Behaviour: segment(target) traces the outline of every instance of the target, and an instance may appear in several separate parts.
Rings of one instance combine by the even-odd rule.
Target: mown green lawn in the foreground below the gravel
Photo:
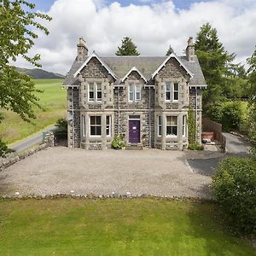
[[[211,204],[157,199],[0,201],[0,255],[256,255]]]

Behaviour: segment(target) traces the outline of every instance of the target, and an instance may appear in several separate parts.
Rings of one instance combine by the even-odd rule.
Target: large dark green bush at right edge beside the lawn
[[[256,161],[226,158],[213,177],[213,195],[235,233],[256,235]]]

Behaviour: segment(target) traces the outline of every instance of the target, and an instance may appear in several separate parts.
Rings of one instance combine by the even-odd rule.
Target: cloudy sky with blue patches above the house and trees
[[[183,55],[190,36],[206,22],[236,62],[246,63],[256,44],[256,0],[30,0],[53,20],[39,20],[49,36],[38,32],[30,55],[40,54],[42,68],[66,74],[83,37],[89,54],[114,55],[128,36],[141,55],[166,55],[169,45]],[[18,58],[18,67],[32,67]]]

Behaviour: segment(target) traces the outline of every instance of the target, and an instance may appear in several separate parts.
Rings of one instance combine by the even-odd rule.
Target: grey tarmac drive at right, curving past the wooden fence
[[[250,144],[242,137],[237,137],[230,133],[224,132],[226,137],[226,154],[218,158],[209,159],[189,159],[189,166],[194,172],[203,175],[212,176],[214,169],[218,167],[218,162],[227,156],[247,156],[249,154]]]

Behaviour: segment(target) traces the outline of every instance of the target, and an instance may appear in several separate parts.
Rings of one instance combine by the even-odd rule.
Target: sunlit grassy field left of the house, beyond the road
[[[55,124],[55,121],[66,116],[66,90],[62,89],[62,79],[38,79],[35,80],[36,87],[44,90],[38,93],[42,109],[36,109],[37,119],[33,120],[35,125],[27,124],[16,113],[1,110],[5,119],[0,124],[0,136],[7,143],[14,143],[22,138],[44,129],[48,125]]]

